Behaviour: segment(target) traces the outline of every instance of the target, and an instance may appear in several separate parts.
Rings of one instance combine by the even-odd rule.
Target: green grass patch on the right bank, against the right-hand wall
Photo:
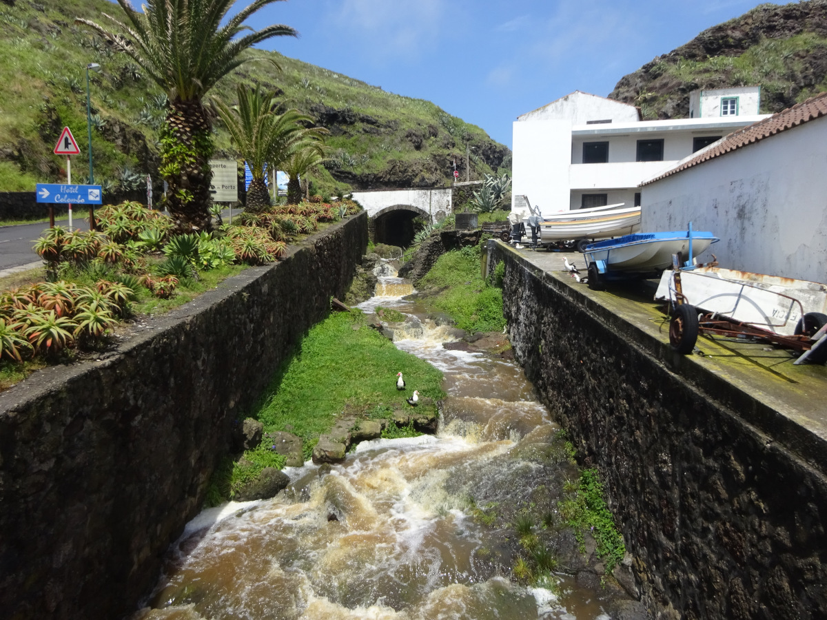
[[[505,327],[503,293],[482,279],[480,246],[452,250],[440,256],[419,283],[419,289],[426,293],[438,291],[432,303],[447,312],[460,329],[502,331]]]

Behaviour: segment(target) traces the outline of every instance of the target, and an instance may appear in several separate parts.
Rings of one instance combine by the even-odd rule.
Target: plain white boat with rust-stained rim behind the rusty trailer
[[[748,271],[696,267],[681,269],[681,294],[704,312],[793,336],[802,316],[827,312],[827,285]],[[676,301],[675,272],[664,271],[655,299]]]

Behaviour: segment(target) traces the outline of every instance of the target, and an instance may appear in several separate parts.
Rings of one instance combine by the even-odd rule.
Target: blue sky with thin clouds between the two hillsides
[[[250,24],[293,26],[299,39],[263,47],[433,101],[510,146],[519,114],[573,90],[605,96],[625,74],[758,3],[287,0]]]

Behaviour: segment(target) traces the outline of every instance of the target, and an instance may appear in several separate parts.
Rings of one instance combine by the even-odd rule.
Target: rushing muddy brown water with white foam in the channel
[[[475,507],[533,507],[570,466],[530,457],[556,428],[522,370],[443,346],[451,329],[401,299],[409,287],[382,278],[361,308],[420,315],[394,341],[445,373],[437,436],[367,441],[321,476],[286,469],[292,484],[272,500],[204,511],[137,618],[610,618],[599,589],[566,575],[552,579],[557,595],[512,579],[513,527],[480,522]]]

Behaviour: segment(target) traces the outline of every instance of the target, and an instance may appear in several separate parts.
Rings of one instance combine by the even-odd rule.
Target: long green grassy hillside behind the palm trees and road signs
[[[156,176],[158,127],[165,97],[131,60],[74,23],[86,17],[105,24],[102,12],[120,8],[105,0],[0,1],[0,191],[33,190],[36,182],[63,179],[65,160],[52,155],[63,126],[86,153],[85,67],[91,73],[95,181],[112,191]],[[330,190],[416,187],[447,183],[452,160],[464,162],[471,146],[471,175],[510,168],[510,151],[480,127],[463,122],[422,99],[385,93],[380,87],[289,59],[251,50],[219,84],[215,96],[234,103],[238,80],[278,88],[284,107],[298,107],[331,131],[332,163],[314,179]],[[280,65],[279,71],[272,61]],[[217,127],[217,156],[234,157],[226,132]],[[88,162],[73,158],[73,180],[84,180]]]

